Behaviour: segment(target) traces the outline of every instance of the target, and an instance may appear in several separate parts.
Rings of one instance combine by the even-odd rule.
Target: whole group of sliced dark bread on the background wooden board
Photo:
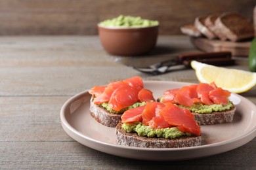
[[[252,39],[256,30],[256,7],[254,11],[254,22],[251,23],[247,18],[236,12],[216,12],[207,16],[198,16],[194,21],[194,27],[207,39],[221,39],[221,41],[244,41]],[[194,32],[192,26],[184,25],[181,32],[197,37],[199,33]]]

